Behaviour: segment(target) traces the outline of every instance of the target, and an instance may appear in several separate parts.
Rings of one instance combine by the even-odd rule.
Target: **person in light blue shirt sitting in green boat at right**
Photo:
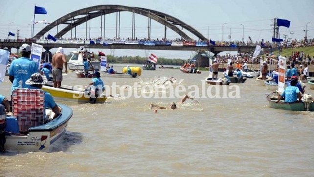
[[[286,87],[286,89],[279,96],[276,103],[278,103],[283,97],[285,98],[286,103],[294,103],[297,101],[301,101],[302,95],[299,88],[296,87],[297,82],[298,82],[297,79],[291,79],[290,86]]]

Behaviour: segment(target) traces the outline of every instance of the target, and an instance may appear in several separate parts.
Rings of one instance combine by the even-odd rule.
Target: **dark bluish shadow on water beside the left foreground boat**
[[[82,140],[82,133],[66,131],[63,138],[54,143],[51,152],[67,151],[70,146],[82,143]]]

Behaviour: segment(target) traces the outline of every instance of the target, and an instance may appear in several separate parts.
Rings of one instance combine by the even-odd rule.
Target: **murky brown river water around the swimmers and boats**
[[[124,65],[114,66],[117,71],[122,67]],[[115,91],[121,97],[108,98],[104,104],[58,101],[74,111],[58,148],[51,153],[0,155],[0,176],[314,176],[313,112],[270,108],[266,94],[272,91],[255,79],[247,79],[243,84],[231,83],[233,88],[207,92],[210,85],[201,81],[207,75],[205,71],[183,74],[179,69],[159,68],[144,70],[136,79],[108,78],[102,73],[106,85],[120,86]],[[162,85],[169,77],[177,80]],[[89,82],[90,79],[78,79],[75,72],[70,72],[64,76],[63,84],[73,86]],[[141,97],[135,98],[133,94],[127,98],[135,82],[140,87],[138,91],[132,89],[131,93],[136,92]],[[6,77],[0,85],[1,94],[8,96],[10,85]],[[158,86],[168,88],[151,89]],[[188,89],[188,86],[194,87]],[[203,97],[194,95],[197,102],[188,99],[179,104],[179,96],[169,98],[170,87],[186,88],[186,92],[177,90],[180,96],[198,87],[198,96]],[[228,95],[230,92],[233,94]],[[150,93],[154,96],[149,97]],[[209,98],[208,93],[220,98]],[[306,93],[314,95],[309,86]],[[161,98],[162,94],[166,98]],[[148,98],[144,98],[145,95]],[[234,95],[240,98],[230,98]],[[158,110],[157,113],[149,109],[150,103],[168,106],[171,102],[176,102],[178,109]]]

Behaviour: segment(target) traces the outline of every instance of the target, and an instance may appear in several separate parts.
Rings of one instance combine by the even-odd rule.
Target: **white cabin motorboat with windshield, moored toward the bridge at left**
[[[84,70],[82,52],[72,51],[71,54],[72,54],[72,56],[71,56],[70,60],[67,62],[68,70],[73,70],[73,71],[74,70]],[[88,54],[89,53],[87,53],[87,55]],[[96,70],[96,71],[100,70],[100,61],[90,61],[90,63],[94,67],[94,70]],[[90,71],[92,71],[91,67],[90,67]]]

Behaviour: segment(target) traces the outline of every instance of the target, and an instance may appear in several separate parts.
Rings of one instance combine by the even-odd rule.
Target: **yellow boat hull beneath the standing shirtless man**
[[[77,103],[89,103],[90,96],[87,95],[82,88],[71,87],[68,85],[61,85],[61,88],[54,88],[53,83],[48,82],[43,85],[42,90],[49,92],[55,100],[59,101],[71,101]],[[102,94],[96,99],[96,104],[102,104],[106,101],[106,96]]]

